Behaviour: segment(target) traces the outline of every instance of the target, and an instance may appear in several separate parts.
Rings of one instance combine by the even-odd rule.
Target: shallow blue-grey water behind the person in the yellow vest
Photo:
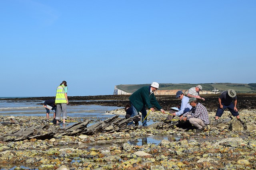
[[[46,116],[46,109],[43,107],[43,103],[44,101],[0,100],[0,115]],[[113,117],[113,115],[105,114],[106,111],[111,111],[119,108],[122,107],[98,105],[68,105],[67,113],[69,117],[108,118]],[[50,116],[53,116],[52,110],[50,110]],[[120,117],[122,117],[122,115]]]

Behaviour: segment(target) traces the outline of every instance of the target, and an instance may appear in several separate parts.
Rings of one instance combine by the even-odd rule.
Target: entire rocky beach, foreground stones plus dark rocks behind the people
[[[0,115],[0,132],[1,136],[4,136],[0,141],[0,168],[3,170],[256,169],[256,94],[238,94],[237,106],[244,125],[230,116],[227,110],[218,121],[214,121],[218,96],[218,94],[203,96],[206,101],[201,103],[208,109],[210,125],[200,132],[178,121],[166,122],[166,114],[150,112],[148,120],[155,123],[148,127],[131,126],[125,131],[111,133],[57,135],[50,139],[32,138],[15,141],[11,134],[31,125],[55,129],[64,127],[44,121],[45,117]],[[75,96],[70,97],[69,100],[70,105],[73,106],[97,104],[124,107],[129,104],[128,97],[127,95]],[[165,110],[180,104],[180,100],[171,95],[161,95],[156,98]],[[23,100],[45,99],[24,98]],[[106,111],[106,114],[124,115],[125,111],[117,109]],[[69,117],[68,121],[71,124],[71,122],[90,121],[90,118]],[[94,123],[100,121],[94,120]],[[42,135],[44,133],[46,132],[42,131]],[[163,139],[159,144],[145,145],[132,145],[126,142],[130,138],[157,135],[174,135],[180,140]],[[104,146],[108,141],[112,145]],[[122,141],[122,144],[119,141]],[[102,143],[102,147],[100,144],[98,147],[88,147],[89,143],[98,142]]]

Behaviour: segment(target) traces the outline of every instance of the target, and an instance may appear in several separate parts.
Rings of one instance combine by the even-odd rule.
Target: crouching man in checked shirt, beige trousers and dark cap
[[[206,125],[209,125],[209,115],[205,106],[196,101],[196,98],[190,98],[188,103],[192,106],[192,109],[187,113],[184,113],[180,120],[186,121],[196,127],[197,131],[203,131]]]

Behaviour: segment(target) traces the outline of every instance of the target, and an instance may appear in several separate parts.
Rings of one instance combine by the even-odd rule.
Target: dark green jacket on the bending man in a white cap
[[[130,102],[138,112],[142,110],[143,106],[148,108],[155,106],[158,110],[162,109],[162,107],[157,102],[154,93],[150,94],[150,87],[151,86],[144,86],[138,89],[129,98]]]

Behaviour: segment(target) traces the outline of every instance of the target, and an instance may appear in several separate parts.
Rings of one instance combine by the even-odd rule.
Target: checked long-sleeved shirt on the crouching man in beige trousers
[[[184,113],[183,117],[186,117],[186,115],[191,115],[188,116],[187,119],[189,120],[190,118],[198,118],[201,119],[205,125],[209,125],[209,115],[206,107],[204,105],[197,103],[195,107],[192,107],[192,109]]]

